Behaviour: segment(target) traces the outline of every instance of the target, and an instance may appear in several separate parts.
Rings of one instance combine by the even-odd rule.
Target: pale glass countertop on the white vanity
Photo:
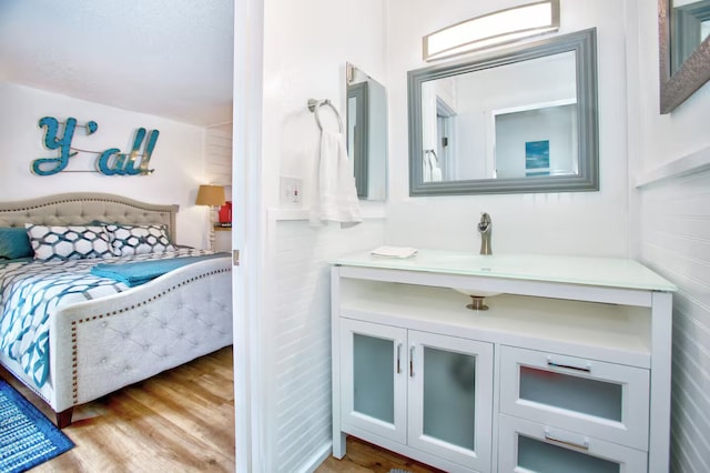
[[[676,285],[641,263],[621,258],[551,254],[480,255],[462,251],[418,250],[409,258],[359,252],[332,261],[342,266],[377,268],[511,280],[561,282],[607,288],[674,292]]]

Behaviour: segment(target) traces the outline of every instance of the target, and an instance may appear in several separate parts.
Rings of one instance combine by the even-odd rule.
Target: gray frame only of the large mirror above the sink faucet
[[[422,83],[449,76],[575,51],[579,174],[516,179],[479,179],[424,182],[422,144]],[[409,195],[463,195],[484,193],[585,192],[599,190],[597,114],[597,30],[550,37],[485,57],[417,69],[407,73],[409,104]]]

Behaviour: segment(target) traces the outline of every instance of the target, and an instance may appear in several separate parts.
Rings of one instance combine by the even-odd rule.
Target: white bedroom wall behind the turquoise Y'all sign
[[[0,200],[21,200],[61,192],[109,192],[152,203],[176,203],[178,242],[206,245],[203,209],[194,205],[203,174],[203,129],[159,117],[72,99],[23,85],[0,82]],[[77,128],[72,145],[103,151],[130,151],[135,130],[159,130],[150,161],[150,175],[103,175],[95,172],[60,172],[34,175],[31,162],[57,157],[43,147],[42,117],[60,121],[69,117],[79,124],[94,120],[99,129],[85,135]],[[61,135],[61,134],[60,134]],[[79,153],[67,169],[91,170],[97,154]]]

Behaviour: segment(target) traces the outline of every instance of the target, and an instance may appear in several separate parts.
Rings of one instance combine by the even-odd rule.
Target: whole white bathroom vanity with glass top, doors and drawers
[[[667,472],[674,286],[539,258],[337,260],[334,456],[352,434],[452,472]]]

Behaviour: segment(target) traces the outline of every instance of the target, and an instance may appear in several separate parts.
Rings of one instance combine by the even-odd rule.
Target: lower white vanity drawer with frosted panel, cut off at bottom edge
[[[498,471],[639,473],[646,452],[500,414]]]

